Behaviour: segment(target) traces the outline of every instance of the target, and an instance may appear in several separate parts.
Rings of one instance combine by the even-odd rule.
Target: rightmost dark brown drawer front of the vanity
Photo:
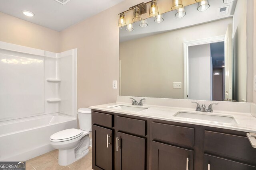
[[[256,164],[256,149],[247,137],[204,131],[204,151]]]

